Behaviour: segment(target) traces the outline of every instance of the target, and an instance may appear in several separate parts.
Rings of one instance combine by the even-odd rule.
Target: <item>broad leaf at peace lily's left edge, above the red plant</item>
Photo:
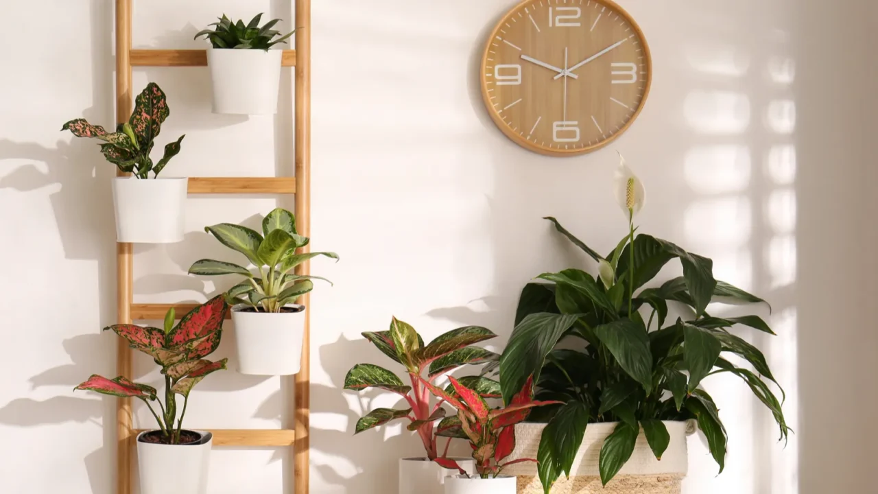
[[[500,385],[506,403],[524,387],[530,376],[539,381],[546,355],[576,320],[577,316],[572,314],[539,313],[525,317],[515,326],[500,357]]]

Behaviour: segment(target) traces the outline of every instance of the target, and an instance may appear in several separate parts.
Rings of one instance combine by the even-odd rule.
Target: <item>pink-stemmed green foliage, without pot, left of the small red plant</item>
[[[394,317],[387,331],[363,332],[363,337],[372,342],[378,350],[397,364],[405,367],[411,385],[403,383],[396,374],[372,364],[356,364],[344,378],[344,389],[363,390],[369,388],[384,389],[402,396],[408,403],[407,410],[378,409],[360,418],[356,423],[356,433],[372,427],[385,425],[397,418],[408,418],[409,431],[418,433],[430,460],[442,460],[436,446],[436,437],[466,438],[462,425],[457,417],[445,417],[446,410],[442,402],[432,403],[430,396],[450,396],[457,401],[457,391],[450,387],[446,390],[436,389],[432,382],[443,374],[447,374],[465,365],[479,365],[495,362],[500,358],[478,346],[471,346],[497,335],[479,326],[464,326],[448,331],[429,343],[424,344],[423,338],[414,328]],[[428,372],[427,377],[424,374]],[[461,378],[460,383],[471,389],[481,398],[500,397],[500,382],[484,376]],[[436,422],[443,419],[436,426]],[[450,463],[449,463],[450,465]],[[448,468],[452,468],[449,466]]]

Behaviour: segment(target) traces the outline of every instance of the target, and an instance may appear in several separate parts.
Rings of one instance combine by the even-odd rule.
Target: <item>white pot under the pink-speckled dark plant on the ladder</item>
[[[116,240],[122,243],[183,242],[188,186],[188,178],[113,178]]]

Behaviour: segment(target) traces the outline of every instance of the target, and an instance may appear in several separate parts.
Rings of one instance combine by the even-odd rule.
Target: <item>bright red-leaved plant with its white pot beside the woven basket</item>
[[[446,390],[436,388],[429,381],[422,380],[422,383],[457,409],[457,416],[444,418],[439,423],[439,432],[470,440],[478,476],[470,476],[453,460],[436,458],[437,463],[455,468],[461,474],[445,479],[445,494],[515,494],[515,476],[501,476],[500,473],[516,463],[536,463],[533,458],[521,457],[503,462],[515,449],[515,424],[528,418],[530,409],[536,406],[564,402],[534,401],[534,381],[529,378],[506,407],[492,409],[479,391],[453,377],[449,380],[450,389]]]

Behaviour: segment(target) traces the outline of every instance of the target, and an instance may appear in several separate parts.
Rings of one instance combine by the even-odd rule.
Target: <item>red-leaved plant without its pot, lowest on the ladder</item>
[[[147,384],[138,384],[120,375],[107,379],[93,374],[88,381],[76,389],[88,389],[104,395],[135,397],[147,403],[162,431],[163,444],[180,444],[183,432],[183,418],[189,394],[199,381],[219,369],[226,368],[227,359],[213,362],[205,360],[217,346],[222,335],[222,323],[228,312],[228,305],[222,295],[212,298],[205,304],[192,309],[174,325],[174,309],[165,316],[164,327],[151,328],[134,324],[116,324],[105,330],[115,331],[125,338],[133,349],[151,356],[162,366],[165,380],[164,403],[158,391]],[[176,396],[183,396],[183,409],[177,414]],[[161,415],[156,413],[151,402],[158,402]]]

